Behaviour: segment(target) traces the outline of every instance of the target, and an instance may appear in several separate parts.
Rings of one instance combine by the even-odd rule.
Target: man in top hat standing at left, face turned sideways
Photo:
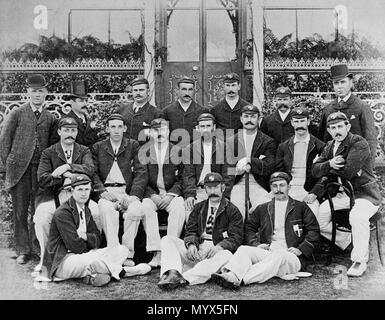
[[[98,132],[88,117],[87,87],[83,80],[71,81],[71,111],[65,117],[71,117],[78,124],[76,142],[91,147],[98,141]]]

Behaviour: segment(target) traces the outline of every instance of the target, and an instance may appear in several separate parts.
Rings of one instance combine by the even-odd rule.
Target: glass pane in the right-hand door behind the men
[[[236,61],[238,14],[229,15],[226,10],[209,10],[206,14],[207,61]],[[221,23],[219,24],[218,21]]]

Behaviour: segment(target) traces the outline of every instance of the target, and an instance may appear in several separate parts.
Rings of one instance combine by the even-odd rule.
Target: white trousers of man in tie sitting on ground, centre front
[[[214,246],[212,241],[204,241],[199,245],[199,253],[204,257],[208,248]],[[213,273],[224,266],[231,258],[229,250],[219,251],[215,256],[199,262],[187,259],[187,249],[182,239],[165,236],[161,241],[162,276],[169,270],[179,271],[190,285],[205,283]]]

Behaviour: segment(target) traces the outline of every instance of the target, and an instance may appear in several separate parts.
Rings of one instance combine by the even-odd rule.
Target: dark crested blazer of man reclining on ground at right
[[[257,247],[262,243],[271,244],[274,233],[275,200],[257,206],[245,222],[245,244]],[[294,226],[302,229],[302,234],[294,232]],[[313,212],[306,203],[289,197],[285,213],[285,238],[288,248],[301,250],[298,258],[305,269],[314,248],[320,239],[320,227]]]

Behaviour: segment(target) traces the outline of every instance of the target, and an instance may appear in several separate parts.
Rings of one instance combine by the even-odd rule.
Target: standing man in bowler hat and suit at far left
[[[28,227],[28,207],[35,213],[37,168],[42,151],[58,141],[57,120],[44,107],[48,93],[40,74],[27,79],[29,101],[7,115],[0,134],[0,157],[6,170],[6,187],[13,206],[17,263],[38,254],[33,226]]]

